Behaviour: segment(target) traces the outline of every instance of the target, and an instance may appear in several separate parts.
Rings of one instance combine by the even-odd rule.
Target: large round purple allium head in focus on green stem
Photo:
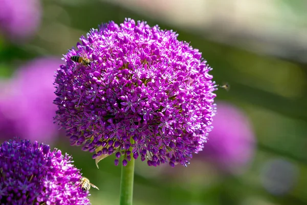
[[[55,120],[71,145],[116,152],[149,166],[186,166],[202,150],[215,113],[211,68],[173,31],[125,19],[92,29],[64,55],[55,80]],[[73,55],[89,58],[82,66]],[[118,159],[115,160],[118,164]]]

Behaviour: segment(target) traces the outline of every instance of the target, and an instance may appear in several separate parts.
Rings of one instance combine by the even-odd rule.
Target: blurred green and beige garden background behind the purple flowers
[[[36,57],[56,56],[75,46],[91,28],[125,17],[179,33],[198,48],[217,84],[216,100],[236,105],[249,117],[257,140],[251,165],[239,175],[216,172],[206,161],[191,160],[187,168],[136,165],[134,204],[307,204],[307,3],[270,0],[45,0],[42,22],[23,44],[0,39],[0,76]],[[210,134],[209,134],[210,138]],[[61,137],[54,147],[73,155],[100,191],[91,189],[92,204],[119,204],[120,166],[109,156],[96,168],[92,154],[70,147]],[[223,149],[223,148],[221,148]],[[277,170],[277,185],[289,191],[272,194],[263,182],[270,160],[289,162],[295,172]],[[287,167],[287,166],[286,166]],[[279,175],[279,174],[280,175]],[[275,177],[271,176],[271,177]],[[287,186],[287,185],[285,185]]]

